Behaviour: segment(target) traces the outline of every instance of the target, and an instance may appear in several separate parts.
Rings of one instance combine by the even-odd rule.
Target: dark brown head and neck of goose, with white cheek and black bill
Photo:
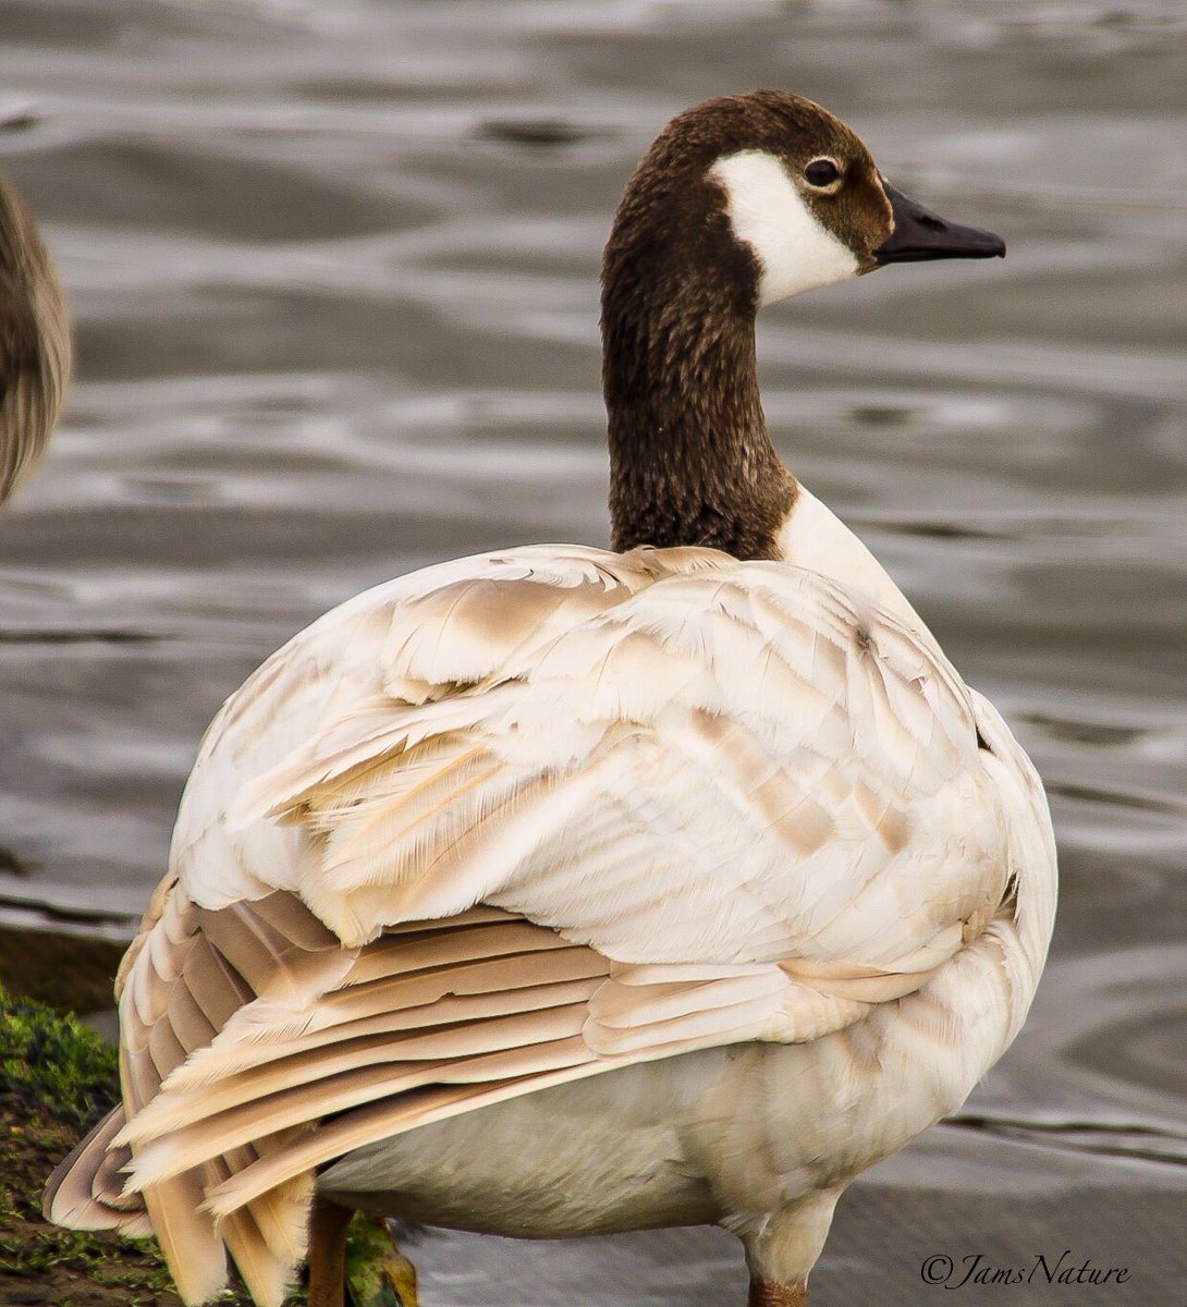
[[[803,97],[753,91],[675,118],[627,183],[603,261],[616,548],[777,557],[795,481],[758,397],[762,305],[890,263],[1004,254],[892,187]]]

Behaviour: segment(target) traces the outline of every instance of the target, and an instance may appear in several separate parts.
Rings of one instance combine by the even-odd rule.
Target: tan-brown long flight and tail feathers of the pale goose
[[[310,1157],[595,1061],[580,1029],[608,962],[498,910],[350,950],[294,895],[210,911],[166,881],[145,928],[120,975],[124,1108],[46,1201],[69,1223],[150,1223],[188,1302],[225,1282],[225,1251],[258,1302],[282,1299]]]

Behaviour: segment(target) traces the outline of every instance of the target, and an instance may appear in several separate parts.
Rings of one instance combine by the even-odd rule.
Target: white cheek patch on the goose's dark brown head
[[[858,274],[852,250],[808,208],[774,154],[743,150],[709,175],[726,188],[733,234],[758,256],[761,305]]]

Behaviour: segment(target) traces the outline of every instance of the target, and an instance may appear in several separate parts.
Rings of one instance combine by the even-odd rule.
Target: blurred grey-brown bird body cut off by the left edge
[[[58,274],[33,214],[0,174],[0,503],[41,457],[69,371]]]

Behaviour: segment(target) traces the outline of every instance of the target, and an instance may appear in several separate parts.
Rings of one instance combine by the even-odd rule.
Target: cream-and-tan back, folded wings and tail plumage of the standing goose
[[[141,1195],[193,1298],[246,1225],[275,1302],[316,1166],[634,1061],[818,1040],[979,941],[1003,1018],[962,1098],[1050,910],[1028,933],[1037,780],[979,733],[928,638],[807,570],[537,546],[353,600],[210,728],[123,972],[128,1191],[51,1209],[127,1222]]]

